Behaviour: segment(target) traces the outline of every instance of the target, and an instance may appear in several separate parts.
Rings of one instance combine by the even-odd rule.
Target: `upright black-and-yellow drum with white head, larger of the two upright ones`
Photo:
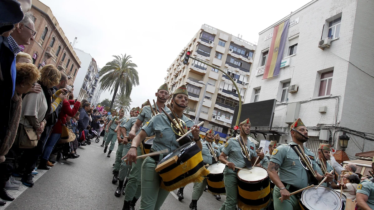
[[[266,169],[254,166],[250,170],[239,170],[237,179],[237,206],[240,209],[261,209],[269,204],[270,179]]]

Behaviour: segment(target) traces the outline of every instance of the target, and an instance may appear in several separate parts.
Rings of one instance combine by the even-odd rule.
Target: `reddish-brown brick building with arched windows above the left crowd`
[[[50,8],[39,0],[33,0],[31,12],[35,16],[37,34],[30,45],[21,46],[21,48],[33,57],[33,63],[36,66],[52,64],[71,77],[68,85],[73,84],[81,62],[64,31]]]

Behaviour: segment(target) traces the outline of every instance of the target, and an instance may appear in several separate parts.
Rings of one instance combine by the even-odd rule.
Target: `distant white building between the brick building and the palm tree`
[[[82,61],[81,70],[78,71],[74,81],[74,96],[87,99],[92,105],[98,104],[101,91],[99,84],[99,69],[96,61],[89,53],[74,48],[78,58]]]

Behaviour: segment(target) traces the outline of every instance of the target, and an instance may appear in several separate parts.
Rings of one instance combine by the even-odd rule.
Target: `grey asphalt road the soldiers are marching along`
[[[7,201],[7,206],[0,210],[122,209],[124,196],[115,197],[117,185],[111,183],[117,146],[108,158],[100,146],[101,142],[93,141],[91,145],[78,148],[80,157],[77,159],[61,160],[48,171],[38,170],[39,175],[34,177],[35,185],[32,188],[22,185],[19,190],[10,190],[16,199]],[[192,188],[192,183],[186,186],[183,201],[178,201],[177,191],[171,192],[161,209],[189,210]],[[218,201],[204,192],[197,202],[197,209],[218,210],[226,199],[224,195],[221,197]],[[140,200],[136,209],[139,206]]]

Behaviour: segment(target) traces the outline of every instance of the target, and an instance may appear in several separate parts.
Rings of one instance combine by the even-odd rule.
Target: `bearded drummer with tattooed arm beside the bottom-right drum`
[[[316,171],[318,166],[315,162],[314,154],[303,145],[309,137],[308,130],[300,118],[291,125],[290,130],[292,142],[274,149],[267,167],[267,173],[276,185],[273,191],[275,210],[300,209],[297,195],[290,196],[290,192],[305,188],[310,184],[308,181],[308,173],[310,172],[301,165],[300,159],[291,148],[291,145],[300,145],[304,149],[304,153],[312,161],[312,167],[316,172],[318,182],[321,182],[325,176],[327,176],[327,182],[331,182],[334,179],[334,176],[329,173],[325,173],[325,176],[322,176]],[[277,198],[281,198],[281,200]]]

